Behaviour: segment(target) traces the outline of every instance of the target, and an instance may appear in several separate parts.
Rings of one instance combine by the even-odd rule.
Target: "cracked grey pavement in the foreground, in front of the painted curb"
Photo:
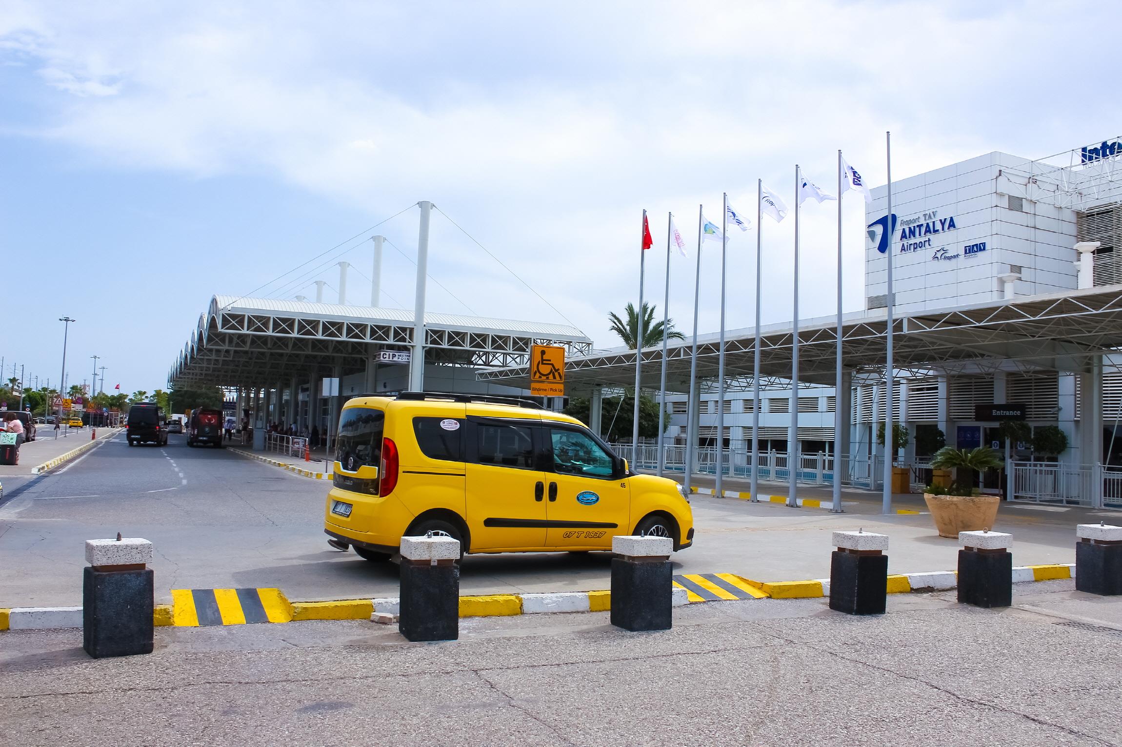
[[[641,634],[475,618],[438,644],[358,620],[157,628],[150,656],[108,660],[77,630],[8,631],[0,745],[1122,744],[1122,600],[1014,594],[896,594],[865,618],[708,602]]]

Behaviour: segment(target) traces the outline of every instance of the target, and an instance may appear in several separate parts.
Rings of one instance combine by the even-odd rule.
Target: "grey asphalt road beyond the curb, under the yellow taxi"
[[[0,505],[0,607],[81,605],[84,541],[139,536],[155,544],[157,601],[172,589],[282,589],[291,600],[397,596],[397,566],[328,546],[328,483],[229,450],[126,444],[92,449]],[[15,497],[9,498],[16,494]],[[871,501],[870,506],[875,506]],[[919,504],[917,504],[919,507]],[[850,504],[852,511],[865,510]],[[739,573],[763,581],[829,575],[830,532],[885,532],[890,572],[954,570],[957,543],[940,540],[929,516],[833,515],[773,504],[695,497],[695,546],[675,553],[675,572]],[[995,528],[1014,534],[1017,564],[1070,563],[1074,525],[1118,522],[1118,511],[1003,506]],[[606,553],[470,555],[463,593],[607,589]]]

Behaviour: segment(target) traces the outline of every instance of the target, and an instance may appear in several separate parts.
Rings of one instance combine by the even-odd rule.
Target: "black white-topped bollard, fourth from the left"
[[[830,609],[847,615],[884,615],[889,589],[886,534],[835,532],[830,555]]]

